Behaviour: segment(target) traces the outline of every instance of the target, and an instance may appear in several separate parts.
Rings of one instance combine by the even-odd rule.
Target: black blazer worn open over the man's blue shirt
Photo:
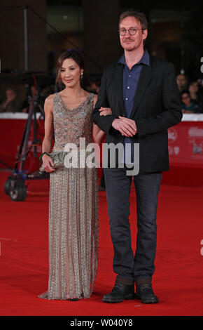
[[[111,107],[112,114],[100,116],[100,107]],[[114,62],[104,70],[97,103],[92,112],[94,123],[106,133],[105,143],[123,143],[122,134],[111,126],[118,116],[126,117],[123,65]],[[150,56],[150,66],[144,65],[141,71],[130,119],[134,119],[137,125],[138,133],[132,137],[132,141],[139,143],[140,171],[168,171],[167,128],[182,119],[179,89],[172,63]]]

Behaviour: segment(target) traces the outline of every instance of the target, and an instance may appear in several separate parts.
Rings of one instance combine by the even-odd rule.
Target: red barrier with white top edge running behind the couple
[[[0,161],[13,168],[15,156],[25,128],[27,114],[0,114]],[[43,139],[43,120],[38,140]],[[174,185],[203,185],[203,114],[184,114],[180,124],[169,128],[169,163],[170,171],[165,172],[162,183]],[[33,126],[29,145],[33,138]],[[25,169],[30,173],[38,170],[38,157],[41,154],[41,143],[37,145],[37,157],[34,158],[33,148],[25,162]],[[102,164],[102,152],[100,154]],[[6,168],[0,164],[1,168]],[[99,177],[102,169],[98,169]]]

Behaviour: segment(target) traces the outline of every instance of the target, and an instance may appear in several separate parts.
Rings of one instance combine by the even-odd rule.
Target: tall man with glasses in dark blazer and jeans
[[[104,70],[92,114],[94,123],[106,132],[106,145],[124,146],[122,159],[116,153],[115,166],[111,166],[110,147],[108,159],[103,159],[113,270],[117,274],[113,290],[102,299],[106,303],[132,298],[139,298],[142,303],[158,303],[151,284],[155,271],[158,192],[162,171],[169,170],[167,128],[181,121],[182,112],[174,65],[148,54],[144,48],[147,33],[144,13],[128,11],[120,15],[124,54]],[[111,107],[112,114],[100,116],[101,107]],[[134,145],[139,145],[139,155]],[[139,171],[129,175],[132,163]],[[135,255],[128,218],[132,177],[137,194]]]

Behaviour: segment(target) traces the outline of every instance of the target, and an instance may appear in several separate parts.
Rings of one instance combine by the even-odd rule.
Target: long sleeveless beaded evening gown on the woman
[[[94,94],[74,109],[55,93],[54,150],[66,143],[92,143]],[[85,157],[87,157],[87,153]],[[49,280],[39,298],[89,298],[97,275],[99,251],[97,168],[62,167],[50,173]]]

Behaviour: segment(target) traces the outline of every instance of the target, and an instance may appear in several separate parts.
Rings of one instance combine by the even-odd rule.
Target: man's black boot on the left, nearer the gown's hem
[[[122,303],[122,301],[134,299],[134,284],[123,284],[116,281],[111,293],[105,294],[102,301],[104,303]]]

